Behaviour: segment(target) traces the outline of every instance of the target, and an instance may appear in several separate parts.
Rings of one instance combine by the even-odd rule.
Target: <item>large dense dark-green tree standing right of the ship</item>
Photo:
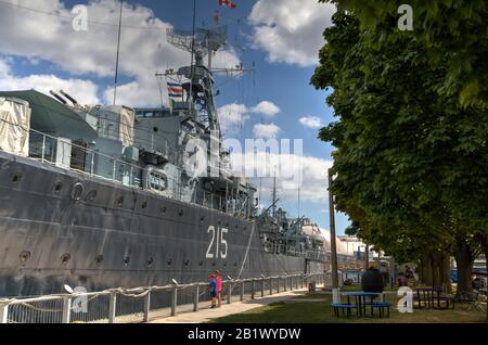
[[[371,24],[363,1],[334,2],[349,12],[339,10],[325,30],[312,84],[333,89],[328,103],[339,119],[320,133],[337,148],[337,207],[362,238],[396,255],[446,260],[452,250],[468,290],[467,242],[488,229],[483,90],[467,92],[467,81],[452,77],[455,49],[432,52],[426,37],[436,30],[398,30],[395,15],[381,15],[390,7]]]

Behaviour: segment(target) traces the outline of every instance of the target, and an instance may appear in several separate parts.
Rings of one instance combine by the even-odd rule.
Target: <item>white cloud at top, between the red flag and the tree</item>
[[[335,5],[317,0],[258,0],[248,17],[254,46],[270,62],[314,65],[335,11]]]

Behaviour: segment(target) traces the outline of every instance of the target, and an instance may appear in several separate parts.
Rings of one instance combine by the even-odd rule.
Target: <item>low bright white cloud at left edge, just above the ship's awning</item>
[[[0,59],[0,90],[30,90],[35,89],[48,95],[50,90],[64,90],[74,95],[81,104],[98,104],[98,87],[90,80],[61,79],[53,75],[30,75],[18,77],[12,74],[8,60]]]

